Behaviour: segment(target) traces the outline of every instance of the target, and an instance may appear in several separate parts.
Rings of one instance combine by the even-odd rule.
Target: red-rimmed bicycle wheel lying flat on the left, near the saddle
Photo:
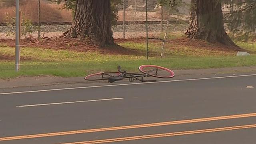
[[[120,72],[99,72],[84,77],[85,80],[108,80],[109,77],[120,76]]]

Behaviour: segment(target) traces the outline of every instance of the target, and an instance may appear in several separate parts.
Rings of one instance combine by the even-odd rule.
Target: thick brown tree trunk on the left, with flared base
[[[110,0],[77,0],[72,27],[65,37],[89,38],[99,46],[112,45]]]

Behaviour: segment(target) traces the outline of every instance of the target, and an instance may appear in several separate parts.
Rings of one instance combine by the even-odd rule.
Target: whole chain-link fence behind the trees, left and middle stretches
[[[170,32],[184,33],[188,25],[190,0],[178,11],[169,13],[158,0],[148,0],[148,34],[159,36],[165,31],[169,18]],[[123,9],[124,8],[124,9]],[[20,0],[22,39],[60,36],[69,30],[73,14],[63,4],[48,0]],[[112,26],[114,38],[146,37],[146,0],[124,0],[118,6],[118,22]],[[15,39],[15,0],[0,0],[0,39]]]

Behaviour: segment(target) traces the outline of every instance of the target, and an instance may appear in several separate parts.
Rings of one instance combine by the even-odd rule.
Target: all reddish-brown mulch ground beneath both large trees
[[[121,42],[135,42],[135,43],[143,43],[145,42],[145,38],[130,38],[130,39],[115,39],[116,43]],[[149,42],[161,42],[158,39],[150,39]],[[15,40],[6,40],[0,39],[0,44],[4,44],[10,47],[15,47]],[[39,47],[45,49],[52,49],[52,50],[72,50],[76,52],[99,52],[101,54],[125,54],[125,55],[136,55],[141,56],[145,55],[143,51],[140,50],[132,50],[129,48],[124,48],[122,46],[108,46],[104,48],[100,48],[96,44],[92,44],[85,40],[76,40],[76,39],[65,39],[65,38],[51,38],[51,39],[41,39],[37,40],[34,38],[26,38],[21,40],[22,46],[29,46],[29,47]],[[195,48],[205,49],[205,50],[214,50],[214,51],[221,51],[221,52],[237,52],[237,51],[246,51],[238,46],[225,46],[220,43],[209,43],[203,40],[191,40],[189,38],[177,38],[173,40],[166,41],[166,47],[170,49],[180,48],[180,47],[187,47],[190,50]],[[0,60],[3,59],[13,59],[12,57],[4,57],[0,55]],[[26,59],[26,58],[23,58]]]

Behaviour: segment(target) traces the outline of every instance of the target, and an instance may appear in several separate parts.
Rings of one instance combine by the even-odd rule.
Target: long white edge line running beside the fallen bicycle
[[[101,88],[101,87],[109,87],[109,86],[128,86],[128,85],[137,85],[137,84],[154,84],[154,83],[165,83],[165,82],[183,82],[183,81],[192,81],[192,80],[210,80],[210,79],[220,79],[220,78],[236,78],[236,77],[245,77],[245,76],[256,76],[256,74],[238,75],[238,76],[221,76],[221,77],[211,77],[211,78],[193,78],[193,79],[185,79],[185,80],[166,80],[166,81],[159,81],[159,82],[111,84],[111,85],[102,85],[102,86],[84,86],[84,87],[76,87],[76,88],[58,88],[58,89],[49,89],[49,90],[32,90],[32,91],[23,91],[23,92],[6,92],[6,93],[0,93],[0,95],[4,95],[4,94],[22,94],[22,93],[30,93],[30,92],[49,92],[49,91],[55,91],[55,90],[74,90],[74,89],[82,89],[82,88]]]

